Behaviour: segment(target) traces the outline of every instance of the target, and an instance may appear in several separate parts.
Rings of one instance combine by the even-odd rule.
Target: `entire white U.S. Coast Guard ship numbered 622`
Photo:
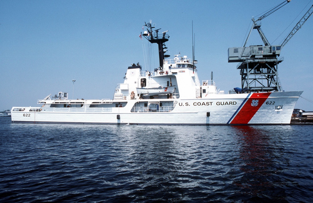
[[[13,123],[129,124],[129,125],[281,125],[290,124],[303,91],[233,91],[217,89],[210,80],[199,81],[198,61],[166,55],[168,31],[145,23],[140,34],[159,50],[154,71],[132,64],[112,99],[69,99],[59,92],[37,101],[37,107],[12,107]]]

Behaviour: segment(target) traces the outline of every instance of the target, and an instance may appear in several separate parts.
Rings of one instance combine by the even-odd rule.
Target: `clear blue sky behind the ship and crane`
[[[144,70],[158,67],[157,45],[149,48],[139,38],[150,20],[156,29],[168,30],[170,58],[179,52],[192,58],[193,25],[200,81],[210,80],[213,72],[218,89],[241,87],[238,63],[228,63],[228,48],[243,46],[251,18],[282,1],[0,0],[0,111],[38,106],[38,99],[61,91],[69,99],[112,99],[132,63]],[[268,41],[279,44],[312,4],[292,0],[264,18]],[[310,17],[283,47],[278,66],[283,90],[304,91],[295,108],[305,111],[313,111],[312,30]],[[250,45],[263,45],[256,30]]]

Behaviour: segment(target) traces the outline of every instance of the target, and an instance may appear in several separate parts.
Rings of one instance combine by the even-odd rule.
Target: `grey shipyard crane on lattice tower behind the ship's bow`
[[[240,62],[237,69],[240,69],[241,75],[241,88],[234,88],[234,91],[230,91],[230,93],[282,91],[278,81],[278,64],[284,60],[283,57],[279,57],[281,48],[286,45],[291,37],[295,35],[305,21],[311,16],[313,13],[313,5],[280,45],[271,45],[269,43],[264,32],[261,30],[261,23],[259,23],[259,21],[289,2],[290,0],[280,3],[257,20],[252,18],[253,24],[244,46],[228,48],[228,62]],[[252,29],[258,30],[261,39],[264,42],[264,46],[252,45],[245,47]]]

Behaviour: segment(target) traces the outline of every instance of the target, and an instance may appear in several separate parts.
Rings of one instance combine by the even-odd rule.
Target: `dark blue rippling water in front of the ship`
[[[311,202],[312,132],[0,118],[0,202]]]

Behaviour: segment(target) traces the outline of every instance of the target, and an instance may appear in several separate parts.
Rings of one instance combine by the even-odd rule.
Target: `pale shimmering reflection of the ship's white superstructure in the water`
[[[131,173],[130,181],[134,184],[125,195],[120,194],[121,198],[184,199],[184,192],[177,191],[199,185],[189,174],[194,170],[192,162],[197,156],[194,133],[173,126],[127,126],[124,130],[119,134],[128,144],[123,158],[127,167],[123,171]]]

